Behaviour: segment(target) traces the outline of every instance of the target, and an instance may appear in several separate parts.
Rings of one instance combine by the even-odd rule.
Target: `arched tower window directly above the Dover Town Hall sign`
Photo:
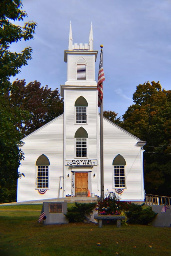
[[[87,131],[80,127],[75,133],[76,157],[87,157]]]

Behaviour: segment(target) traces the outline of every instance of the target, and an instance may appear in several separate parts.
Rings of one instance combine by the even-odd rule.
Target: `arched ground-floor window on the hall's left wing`
[[[36,161],[37,166],[37,178],[36,178],[36,188],[41,189],[48,189],[49,188],[49,166],[50,162],[49,159],[42,154],[38,157]]]

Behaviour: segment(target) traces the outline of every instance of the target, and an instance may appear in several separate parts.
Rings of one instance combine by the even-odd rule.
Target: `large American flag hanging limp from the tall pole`
[[[99,74],[98,74],[98,82],[97,82],[97,89],[99,91],[98,97],[98,107],[100,107],[102,100],[103,100],[103,81],[104,78],[104,71],[103,71],[103,63],[102,63],[102,51],[100,53],[100,64],[99,64]]]

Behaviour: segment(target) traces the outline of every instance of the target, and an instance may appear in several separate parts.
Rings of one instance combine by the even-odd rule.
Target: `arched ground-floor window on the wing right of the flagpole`
[[[126,188],[126,182],[125,182],[125,166],[126,166],[126,161],[121,156],[118,154],[114,160],[113,160],[113,184],[115,189],[122,189]]]

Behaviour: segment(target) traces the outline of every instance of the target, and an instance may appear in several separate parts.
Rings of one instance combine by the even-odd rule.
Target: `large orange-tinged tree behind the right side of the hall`
[[[142,140],[146,193],[169,196],[171,193],[171,91],[159,82],[137,86],[134,103],[123,115],[121,126]]]

